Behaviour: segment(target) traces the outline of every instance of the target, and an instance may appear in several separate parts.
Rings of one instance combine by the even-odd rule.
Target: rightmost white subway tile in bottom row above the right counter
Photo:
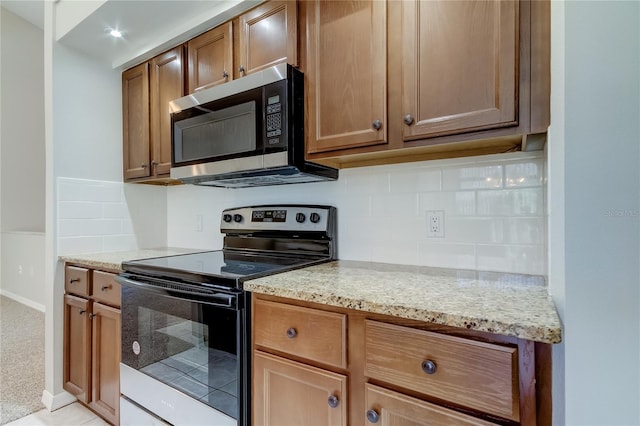
[[[519,274],[546,274],[545,250],[542,245],[476,246],[478,269]]]

